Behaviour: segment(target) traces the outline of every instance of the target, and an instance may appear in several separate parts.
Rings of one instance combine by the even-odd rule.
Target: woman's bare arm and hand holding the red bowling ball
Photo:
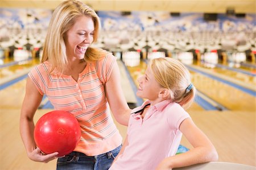
[[[48,155],[42,155],[39,148],[36,147],[34,140],[34,115],[43,96],[38,92],[31,79],[27,79],[26,94],[23,100],[20,113],[20,136],[27,151],[27,155],[31,160],[42,161],[47,163],[55,159],[57,152]]]

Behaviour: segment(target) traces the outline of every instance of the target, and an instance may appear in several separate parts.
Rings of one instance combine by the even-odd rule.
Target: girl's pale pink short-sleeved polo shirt
[[[190,118],[189,114],[179,104],[165,100],[150,106],[142,119],[135,112],[148,103],[147,100],[131,111],[127,129],[129,144],[111,170],[155,169],[165,157],[176,154],[182,136],[179,126]]]

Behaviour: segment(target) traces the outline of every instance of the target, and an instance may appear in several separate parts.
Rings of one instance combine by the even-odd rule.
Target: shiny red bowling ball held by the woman
[[[44,154],[59,152],[57,156],[67,155],[75,149],[80,137],[79,122],[67,111],[50,111],[35,125],[35,142]]]

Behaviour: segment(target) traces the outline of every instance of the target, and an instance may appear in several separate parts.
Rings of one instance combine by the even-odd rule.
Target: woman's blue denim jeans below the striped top
[[[119,146],[112,151],[97,156],[86,156],[80,152],[71,152],[71,154],[58,158],[57,170],[107,170],[121,147]]]

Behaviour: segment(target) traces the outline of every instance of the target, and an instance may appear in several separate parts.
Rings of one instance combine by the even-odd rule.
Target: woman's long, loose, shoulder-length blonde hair
[[[46,40],[44,42],[42,63],[49,61],[51,71],[63,72],[68,66],[64,35],[75,23],[75,20],[82,15],[90,16],[94,23],[93,42],[96,42],[101,30],[100,18],[96,12],[84,3],[76,0],[69,0],[60,3],[53,11]],[[84,60],[95,61],[106,55],[103,49],[88,47]]]

